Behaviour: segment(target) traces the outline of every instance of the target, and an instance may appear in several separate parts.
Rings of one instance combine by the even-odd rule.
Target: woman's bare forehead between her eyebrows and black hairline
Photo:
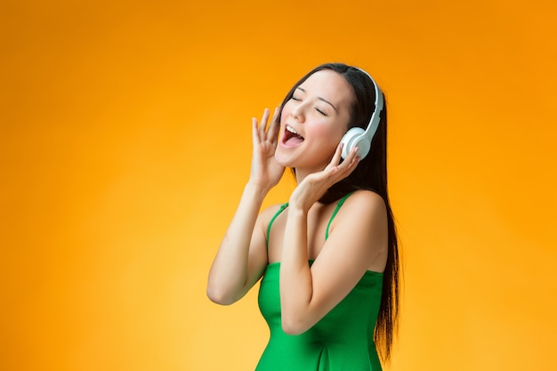
[[[332,102],[338,108],[349,109],[354,93],[346,79],[331,69],[322,69],[308,77],[300,87],[311,95]]]

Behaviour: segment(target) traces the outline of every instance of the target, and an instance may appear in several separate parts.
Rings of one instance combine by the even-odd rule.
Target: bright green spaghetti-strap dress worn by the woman
[[[331,221],[348,196],[339,201]],[[278,210],[270,224],[286,206]],[[279,270],[280,262],[270,263],[259,290],[259,308],[269,325],[270,340],[256,371],[381,370],[373,335],[383,273],[367,270],[351,292],[317,324],[301,335],[287,335],[280,324]]]

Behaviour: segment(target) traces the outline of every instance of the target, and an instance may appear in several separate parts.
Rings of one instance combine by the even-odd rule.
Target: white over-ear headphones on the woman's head
[[[358,69],[358,68],[356,68]],[[375,80],[363,69],[359,69],[369,77],[375,88],[375,110],[369,119],[369,124],[367,129],[364,130],[361,127],[352,127],[348,132],[346,132],[341,139],[343,143],[343,153],[342,157],[346,158],[350,155],[351,150],[354,147],[358,147],[358,156],[363,159],[367,156],[369,149],[371,149],[371,141],[374,138],[375,132],[377,131],[377,126],[379,126],[379,121],[381,120],[381,111],[383,110],[383,93],[379,90],[379,86],[375,84]]]

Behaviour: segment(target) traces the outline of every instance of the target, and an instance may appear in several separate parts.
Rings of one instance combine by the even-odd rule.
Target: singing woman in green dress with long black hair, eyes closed
[[[343,135],[366,129],[374,111],[367,156],[347,150]],[[399,313],[383,93],[361,69],[324,64],[287,93],[267,125],[269,117],[265,109],[261,123],[253,120],[250,177],[207,294],[230,304],[262,278],[270,342],[257,371],[381,370],[378,353],[389,359]],[[287,204],[260,214],[286,167],[297,187]]]

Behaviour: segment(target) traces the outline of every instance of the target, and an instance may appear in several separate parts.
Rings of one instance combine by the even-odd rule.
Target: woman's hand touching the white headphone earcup
[[[288,207],[308,212],[310,207],[319,201],[325,195],[325,192],[336,182],[342,181],[350,175],[359,163],[359,157],[356,157],[358,149],[352,149],[348,157],[342,164],[341,153],[342,143],[336,147],[335,155],[325,169],[318,173],[307,175],[295,188],[290,196]]]

